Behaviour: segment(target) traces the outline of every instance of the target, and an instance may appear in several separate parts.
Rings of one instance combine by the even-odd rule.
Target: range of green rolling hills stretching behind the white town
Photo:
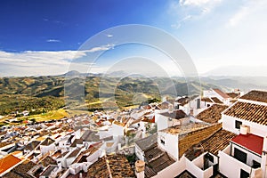
[[[163,95],[176,97],[177,95],[198,94],[200,89],[210,88],[220,88],[225,92],[229,92],[233,88],[239,88],[245,92],[252,89],[267,90],[265,82],[267,77],[200,77],[201,88],[198,78],[188,79],[190,80],[189,83],[186,83],[184,77],[129,76],[123,71],[117,71],[104,77],[103,74],[87,75],[78,71],[70,71],[61,76],[0,77],[0,103],[3,103],[3,101],[1,102],[1,95],[4,97],[14,95],[13,98],[23,95],[24,98],[28,96],[32,100],[53,97],[45,100],[49,99],[53,103],[57,103],[57,99],[62,101],[63,97],[67,98],[65,88],[68,88],[68,99],[73,103],[71,106],[78,109],[79,106],[75,101],[83,100],[81,95],[84,94],[86,102],[96,103],[89,104],[92,110],[100,109],[99,98],[103,101],[109,101],[111,105],[117,103],[118,106],[124,107],[133,105],[134,97],[138,94],[142,95],[142,93],[148,98],[161,100]],[[24,98],[18,98],[20,104],[14,101],[10,101],[9,104],[9,100],[5,100],[5,110],[11,109],[16,104],[23,106]],[[40,101],[37,105],[42,106],[41,102],[45,100],[36,100]],[[59,106],[61,105],[59,104]]]

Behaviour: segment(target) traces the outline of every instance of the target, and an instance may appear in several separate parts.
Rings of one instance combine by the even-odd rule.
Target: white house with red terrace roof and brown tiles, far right
[[[239,135],[219,153],[220,172],[229,177],[266,178],[267,92],[241,96],[223,111],[222,122],[223,129]]]

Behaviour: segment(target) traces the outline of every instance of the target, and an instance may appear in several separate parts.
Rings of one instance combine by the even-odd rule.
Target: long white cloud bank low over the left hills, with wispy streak
[[[84,51],[26,51],[22,53],[8,53],[0,51],[1,76],[32,76],[57,75],[68,71],[71,67],[86,72],[92,61],[77,61],[87,53],[107,51],[112,44],[93,47]],[[93,66],[94,67],[94,66]]]

